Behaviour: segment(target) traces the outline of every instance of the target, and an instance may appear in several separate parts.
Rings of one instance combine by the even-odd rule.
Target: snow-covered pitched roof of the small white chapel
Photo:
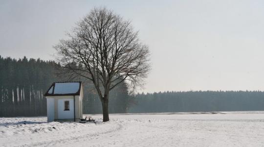
[[[82,82],[54,82],[44,96],[78,96]]]

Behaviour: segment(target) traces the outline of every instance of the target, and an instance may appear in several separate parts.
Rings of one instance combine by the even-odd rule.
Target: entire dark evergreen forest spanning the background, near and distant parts
[[[60,64],[41,59],[12,59],[0,56],[0,117],[44,116],[44,93],[53,82]],[[75,79],[77,81],[79,79]],[[84,114],[102,113],[92,84],[84,83]],[[189,91],[129,95],[125,82],[110,92],[110,113],[255,111],[264,110],[261,91]]]

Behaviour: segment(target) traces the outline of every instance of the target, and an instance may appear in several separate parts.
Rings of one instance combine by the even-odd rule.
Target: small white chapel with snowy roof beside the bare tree
[[[54,82],[44,96],[47,122],[77,122],[83,118],[82,82]]]

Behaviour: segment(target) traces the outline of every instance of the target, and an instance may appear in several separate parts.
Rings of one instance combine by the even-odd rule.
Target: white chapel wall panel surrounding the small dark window
[[[64,110],[64,101],[69,101],[69,110]],[[71,99],[58,99],[58,119],[74,119],[74,106],[73,98]]]

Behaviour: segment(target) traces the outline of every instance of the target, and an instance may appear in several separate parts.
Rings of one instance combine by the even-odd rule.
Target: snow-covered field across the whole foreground
[[[264,147],[264,112],[110,115],[102,123],[0,118],[0,146]]]

